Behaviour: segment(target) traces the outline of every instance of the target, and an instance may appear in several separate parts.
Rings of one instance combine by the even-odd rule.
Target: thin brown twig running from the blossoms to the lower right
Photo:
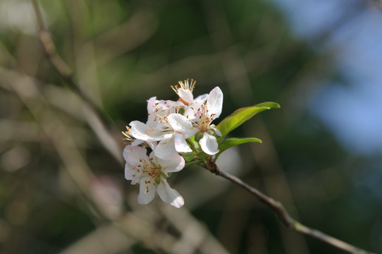
[[[261,193],[261,191],[257,190],[257,188],[253,188],[252,186],[249,186],[247,183],[238,179],[238,177],[228,174],[225,171],[221,171],[220,169],[218,169],[216,165],[209,168],[208,170],[211,171],[211,173],[216,174],[217,176],[221,176],[225,179],[228,179],[229,181],[232,181],[233,183],[236,183],[238,186],[241,186],[242,188],[245,188],[245,190],[249,191],[249,193],[252,193],[252,195],[257,197],[261,202],[263,202],[265,205],[270,207],[271,210],[273,210],[273,212],[276,212],[279,219],[281,219],[283,224],[285,224],[285,226],[287,226],[289,229],[295,230],[301,234],[304,234],[305,236],[316,238],[319,241],[328,243],[329,245],[339,248],[340,250],[345,250],[348,253],[372,254],[367,252],[366,250],[362,250],[360,248],[352,246],[349,243],[340,241],[337,238],[334,238],[333,236],[328,236],[327,234],[324,234],[321,231],[318,231],[316,229],[310,229],[309,227],[304,226],[303,224],[301,224],[300,222],[297,222],[295,219],[293,219],[290,216],[290,214],[288,213],[287,210],[285,210],[285,207],[283,206],[281,202],[278,202],[277,200],[273,200],[273,198],[270,198],[264,193]]]

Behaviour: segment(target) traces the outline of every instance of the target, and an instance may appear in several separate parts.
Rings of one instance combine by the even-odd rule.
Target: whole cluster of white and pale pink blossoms
[[[181,207],[183,198],[166,181],[185,166],[179,153],[218,153],[216,137],[221,133],[211,122],[221,114],[223,92],[215,87],[208,95],[194,98],[195,80],[188,79],[171,88],[178,101],[150,98],[147,122],[132,121],[123,133],[129,143],[123,150],[125,178],[140,184],[141,204],[151,202],[157,192],[164,202]]]

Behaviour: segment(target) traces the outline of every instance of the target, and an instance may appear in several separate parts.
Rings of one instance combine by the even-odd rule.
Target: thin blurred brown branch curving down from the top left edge
[[[75,83],[73,79],[73,71],[70,67],[63,61],[61,56],[56,53],[56,46],[54,45],[53,40],[51,39],[51,34],[49,30],[44,25],[44,20],[42,19],[42,13],[39,9],[39,5],[37,4],[37,0],[30,0],[32,2],[33,9],[35,10],[37,24],[39,26],[39,40],[42,42],[42,46],[44,47],[45,53],[51,64],[56,68],[56,71],[61,75],[63,80],[66,82],[68,87],[70,87],[75,94],[77,94],[97,117],[104,123],[104,126],[108,126],[107,119],[104,116],[104,113],[101,109],[92,102],[92,99],[87,97],[87,95],[80,89],[80,87]]]

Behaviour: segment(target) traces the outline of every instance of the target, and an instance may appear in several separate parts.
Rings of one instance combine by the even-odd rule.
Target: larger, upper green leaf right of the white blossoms
[[[238,128],[238,126],[242,125],[242,123],[249,120],[255,114],[267,109],[276,108],[280,108],[280,105],[276,102],[263,102],[251,107],[243,107],[235,110],[230,116],[227,116],[218,124],[218,126],[216,126],[222,134],[221,137],[218,138],[218,143],[220,143],[228,133],[233,131],[233,129]]]

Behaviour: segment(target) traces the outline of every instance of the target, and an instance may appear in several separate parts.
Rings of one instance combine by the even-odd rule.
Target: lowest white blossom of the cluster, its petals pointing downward
[[[171,188],[166,178],[172,172],[177,172],[185,166],[185,160],[178,154],[168,155],[161,159],[140,146],[127,145],[123,150],[125,158],[125,179],[131,180],[131,184],[140,185],[138,202],[148,204],[154,199],[155,193],[164,202],[174,207],[182,207],[184,200],[182,196]]]

